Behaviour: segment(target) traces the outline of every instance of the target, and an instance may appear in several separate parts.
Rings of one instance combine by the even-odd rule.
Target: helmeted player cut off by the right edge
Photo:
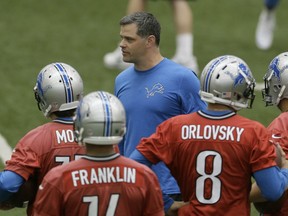
[[[271,131],[271,139],[279,143],[282,149],[288,154],[288,52],[277,55],[269,64],[264,76],[265,88],[262,90],[263,100],[266,106],[277,106],[281,114],[276,117],[268,126]],[[288,160],[288,157],[287,157]],[[288,194],[285,194],[285,201],[281,209],[266,216],[288,215]]]

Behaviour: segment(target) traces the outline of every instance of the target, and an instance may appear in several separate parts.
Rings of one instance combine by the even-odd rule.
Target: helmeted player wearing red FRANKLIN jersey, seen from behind
[[[96,91],[80,102],[75,119],[87,155],[44,177],[34,215],[164,215],[161,189],[147,166],[115,152],[126,130],[125,110],[114,95]]]

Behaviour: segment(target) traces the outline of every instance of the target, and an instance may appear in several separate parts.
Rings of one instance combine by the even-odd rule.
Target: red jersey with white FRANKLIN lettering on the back
[[[116,153],[52,169],[39,187],[35,216],[163,216],[162,193],[147,166]]]

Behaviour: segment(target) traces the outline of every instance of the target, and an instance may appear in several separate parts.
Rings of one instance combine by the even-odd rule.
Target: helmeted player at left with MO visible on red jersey
[[[79,73],[65,63],[49,64],[38,74],[34,94],[38,108],[51,122],[20,139],[4,171],[0,172],[1,209],[20,207],[22,204],[15,200],[29,200],[28,215],[32,214],[33,199],[44,175],[53,167],[85,153],[85,149],[75,142],[73,132],[73,117],[83,95]],[[21,191],[26,181],[35,182],[29,193],[25,193],[27,188],[23,189],[24,193]],[[24,197],[17,197],[20,196],[18,190]]]

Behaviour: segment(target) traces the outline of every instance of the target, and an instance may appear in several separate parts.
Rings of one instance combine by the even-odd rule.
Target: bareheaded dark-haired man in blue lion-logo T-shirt
[[[205,109],[200,82],[188,68],[160,53],[161,26],[156,17],[137,12],[120,20],[123,60],[132,64],[115,79],[115,95],[125,107],[127,132],[119,149],[129,157],[142,137],[173,116]],[[179,187],[161,162],[152,167],[165,194],[181,200]],[[165,210],[169,209],[169,203]]]

